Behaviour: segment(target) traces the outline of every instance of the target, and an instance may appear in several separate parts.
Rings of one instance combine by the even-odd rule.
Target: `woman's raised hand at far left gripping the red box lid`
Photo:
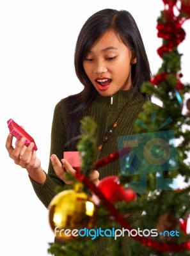
[[[28,147],[24,145],[26,138],[21,138],[15,142],[15,148],[12,145],[13,136],[8,134],[6,140],[6,150],[8,151],[9,156],[13,159],[15,164],[18,164],[22,168],[25,168],[28,171],[31,179],[35,180],[39,184],[43,184],[46,179],[46,174],[42,170],[40,159],[36,157],[36,152],[32,149],[34,143],[29,143]]]

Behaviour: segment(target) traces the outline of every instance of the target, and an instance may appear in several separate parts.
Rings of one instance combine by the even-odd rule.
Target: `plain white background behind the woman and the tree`
[[[152,73],[161,65],[156,50],[161,0],[0,1],[0,255],[47,255],[54,240],[48,211],[36,197],[26,170],[13,164],[4,147],[10,118],[24,125],[38,146],[42,167],[49,163],[54,106],[83,88],[74,72],[77,35],[90,15],[104,8],[128,10],[136,19]],[[190,81],[189,21],[180,45],[182,81]],[[188,45],[188,46],[187,46]]]

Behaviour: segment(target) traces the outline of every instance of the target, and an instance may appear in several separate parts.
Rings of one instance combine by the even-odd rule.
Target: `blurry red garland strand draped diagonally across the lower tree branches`
[[[123,148],[122,150],[115,152],[114,154],[110,154],[109,156],[105,157],[104,159],[100,159],[100,161],[97,161],[95,166],[104,166],[108,163],[111,163],[112,161],[115,161],[118,159],[120,156],[124,156],[125,154],[129,153],[129,148]],[[95,184],[93,184],[86,176],[83,175],[81,172],[80,168],[77,168],[75,172],[75,177],[77,180],[83,182],[90,190],[93,192],[95,195],[97,195],[100,200],[102,200],[103,204],[106,206],[108,211],[111,213],[111,216],[115,217],[115,220],[120,223],[121,227],[132,230],[133,228],[125,218],[120,214],[120,212],[115,208],[109,200],[106,199],[104,194],[100,191]],[[179,252],[179,251],[184,251],[184,250],[190,250],[190,241],[186,241],[181,244],[163,244],[159,243],[157,241],[154,241],[153,239],[150,239],[148,237],[141,237],[137,235],[134,237],[137,239],[143,246],[148,246],[150,248],[153,248],[154,250],[157,250],[159,252]]]

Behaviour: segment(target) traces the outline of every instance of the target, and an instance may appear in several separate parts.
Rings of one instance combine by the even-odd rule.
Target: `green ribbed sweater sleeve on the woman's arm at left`
[[[65,99],[60,100],[54,109],[51,129],[51,154],[56,154],[59,160],[63,159],[64,144],[66,142],[66,128],[65,128]],[[31,179],[31,184],[35,190],[36,195],[40,201],[48,207],[52,198],[56,195],[56,186],[65,184],[63,180],[54,172],[51,161],[49,160],[49,168],[44,184],[38,184]]]

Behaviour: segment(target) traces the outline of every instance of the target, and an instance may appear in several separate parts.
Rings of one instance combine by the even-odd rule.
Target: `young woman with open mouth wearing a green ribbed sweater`
[[[13,147],[11,134],[6,141],[10,157],[26,168],[45,207],[55,195],[54,188],[68,183],[65,173],[75,172],[63,159],[63,152],[76,150],[81,118],[90,115],[97,122],[99,159],[118,149],[118,136],[134,134],[134,122],[149,99],[141,93],[141,84],[150,80],[150,67],[138,27],[129,12],[106,9],[86,20],[77,39],[74,63],[84,89],[62,99],[54,109],[47,174],[36,153],[31,152],[33,143],[26,148],[22,138]],[[93,171],[91,180],[97,183],[102,177],[119,172],[119,161],[115,161],[99,172]]]

